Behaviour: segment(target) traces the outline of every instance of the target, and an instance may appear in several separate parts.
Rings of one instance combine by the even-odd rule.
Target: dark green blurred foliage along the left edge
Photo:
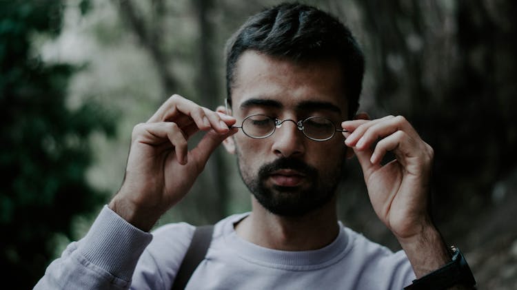
[[[31,56],[31,35],[59,33],[62,10],[60,1],[0,1],[0,265],[19,289],[43,275],[55,234],[70,237],[72,218],[104,201],[85,181],[88,136],[113,134],[112,119],[92,103],[68,110],[76,69]]]

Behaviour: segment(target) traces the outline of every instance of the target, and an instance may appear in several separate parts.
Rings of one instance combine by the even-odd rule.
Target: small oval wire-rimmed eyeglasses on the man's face
[[[295,123],[298,130],[314,141],[327,141],[334,137],[336,132],[347,132],[347,130],[336,129],[332,121],[321,116],[311,116],[296,122],[290,119],[279,120],[278,118],[256,114],[247,116],[241,126],[232,126],[232,128],[240,128],[246,136],[261,139],[271,136],[276,128],[281,127],[285,121]]]

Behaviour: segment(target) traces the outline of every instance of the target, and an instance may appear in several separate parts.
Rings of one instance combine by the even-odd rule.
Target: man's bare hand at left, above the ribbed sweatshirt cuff
[[[236,120],[171,96],[147,123],[132,132],[125,177],[110,208],[136,227],[148,231],[156,220],[187,194],[214,149],[237,130]],[[207,131],[198,145],[187,140]]]

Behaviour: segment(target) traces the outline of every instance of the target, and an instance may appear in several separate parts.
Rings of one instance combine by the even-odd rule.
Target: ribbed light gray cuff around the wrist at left
[[[151,240],[152,234],[134,227],[105,205],[81,240],[79,252],[97,267],[130,281]]]

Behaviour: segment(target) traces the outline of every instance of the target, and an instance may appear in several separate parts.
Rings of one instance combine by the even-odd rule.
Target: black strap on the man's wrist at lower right
[[[474,287],[476,280],[467,260],[458,248],[452,247],[452,262],[433,271],[419,279],[413,280],[413,284],[405,287],[405,290],[447,289],[454,285]]]

